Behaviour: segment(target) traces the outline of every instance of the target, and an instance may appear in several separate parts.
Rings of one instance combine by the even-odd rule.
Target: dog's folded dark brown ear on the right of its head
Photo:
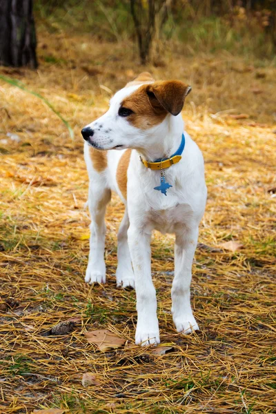
[[[190,86],[181,81],[157,81],[146,87],[152,107],[157,110],[159,106],[175,116],[181,112],[191,90]]]

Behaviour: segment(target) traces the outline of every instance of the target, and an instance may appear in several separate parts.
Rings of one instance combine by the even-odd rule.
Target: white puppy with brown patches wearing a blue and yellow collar
[[[190,306],[192,264],[206,205],[204,160],[184,132],[190,86],[154,81],[148,72],[119,90],[102,117],[81,131],[90,179],[90,254],[86,282],[106,282],[104,215],[114,190],[126,205],[118,233],[117,285],[137,296],[137,344],[159,344],[150,270],[152,230],[175,234],[172,318],[178,332],[197,330]],[[121,150],[121,151],[119,151]]]

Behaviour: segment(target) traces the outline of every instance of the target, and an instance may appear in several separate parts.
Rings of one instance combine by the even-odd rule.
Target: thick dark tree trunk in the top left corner
[[[0,65],[37,68],[32,0],[0,0]]]

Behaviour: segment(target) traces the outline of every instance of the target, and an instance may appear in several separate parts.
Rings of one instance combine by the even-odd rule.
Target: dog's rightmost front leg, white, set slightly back
[[[172,319],[177,332],[190,333],[199,327],[190,306],[192,264],[198,228],[183,229],[175,237],[175,277],[172,282]]]

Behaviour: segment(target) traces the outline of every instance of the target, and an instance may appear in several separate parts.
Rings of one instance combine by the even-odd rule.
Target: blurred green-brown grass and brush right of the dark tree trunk
[[[41,23],[54,31],[81,27],[82,32],[112,42],[134,41],[137,32],[143,34],[141,43],[152,37],[153,59],[171,39],[184,43],[181,51],[184,55],[225,49],[246,57],[254,54],[270,59],[276,52],[274,0],[39,0],[35,3]]]

